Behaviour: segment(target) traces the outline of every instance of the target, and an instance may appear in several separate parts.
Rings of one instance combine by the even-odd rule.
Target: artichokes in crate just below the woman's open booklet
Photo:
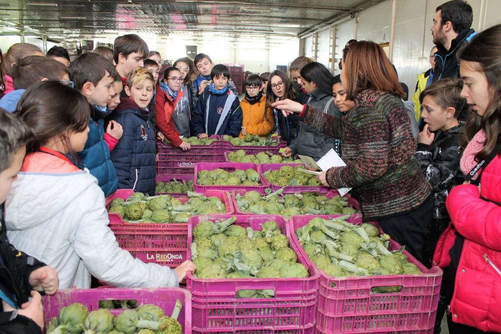
[[[320,180],[312,174],[300,172],[298,168],[305,168],[304,165],[282,166],[280,169],[265,171],[263,176],[272,184],[278,186],[320,186]]]

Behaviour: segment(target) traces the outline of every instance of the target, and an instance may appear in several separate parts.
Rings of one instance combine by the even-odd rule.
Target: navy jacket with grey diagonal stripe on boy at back
[[[191,115],[191,125],[195,136],[206,133],[208,136],[230,135],[232,137],[238,137],[242,129],[243,118],[238,96],[236,96],[231,104],[229,112],[224,118],[219,130],[216,132],[221,112],[230,94],[233,94],[230,90],[226,90],[223,94],[216,95],[211,93],[208,87],[205,89],[205,92],[203,92],[200,99],[198,99],[196,108]],[[209,110],[206,110],[207,99],[209,99],[209,97]],[[206,113],[208,113],[208,119],[206,119]],[[206,123],[207,129],[205,128]]]

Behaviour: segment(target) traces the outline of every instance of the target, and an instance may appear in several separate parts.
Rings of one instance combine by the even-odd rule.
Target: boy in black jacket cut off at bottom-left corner
[[[54,294],[59,285],[58,273],[14,248],[5,227],[5,200],[33,133],[19,118],[2,109],[0,124],[0,332],[42,334],[44,309],[38,291]]]

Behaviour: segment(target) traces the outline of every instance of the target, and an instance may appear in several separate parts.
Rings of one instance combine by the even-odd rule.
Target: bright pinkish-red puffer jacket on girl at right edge
[[[452,320],[483,331],[501,332],[501,158],[496,156],[482,173],[481,189],[459,185],[445,205],[453,227],[440,237],[433,261],[450,263],[449,249],[457,230],[464,245],[450,303]]]

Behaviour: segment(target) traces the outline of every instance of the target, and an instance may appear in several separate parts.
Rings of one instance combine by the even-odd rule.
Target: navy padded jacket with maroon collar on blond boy
[[[155,193],[155,130],[151,124],[154,113],[139,109],[129,98],[112,114],[123,127],[122,138],[111,152],[117,171],[118,187],[154,195]]]

